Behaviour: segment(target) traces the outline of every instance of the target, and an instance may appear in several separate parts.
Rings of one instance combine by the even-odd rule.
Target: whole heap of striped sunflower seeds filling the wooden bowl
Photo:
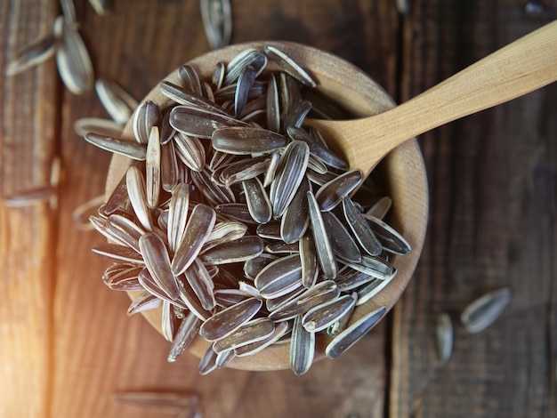
[[[270,61],[280,69],[264,71]],[[140,292],[129,315],[162,309],[168,361],[199,334],[211,342],[201,374],[276,343],[303,374],[316,334],[336,358],[383,318],[376,306],[349,326],[395,276],[388,254],[410,251],[382,220],[391,199],[370,197],[376,187],[303,126],[342,110],[284,52],[246,49],[211,80],[189,65],[179,75],[159,84],[168,102],[135,110],[136,141],[85,134],[133,160],[90,218],[111,242],[93,248],[113,261],[103,280]]]

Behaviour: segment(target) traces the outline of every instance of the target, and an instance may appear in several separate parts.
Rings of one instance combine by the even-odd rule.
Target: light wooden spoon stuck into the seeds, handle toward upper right
[[[400,106],[348,121],[308,120],[367,175],[421,133],[513,100],[557,80],[557,20],[488,55]]]

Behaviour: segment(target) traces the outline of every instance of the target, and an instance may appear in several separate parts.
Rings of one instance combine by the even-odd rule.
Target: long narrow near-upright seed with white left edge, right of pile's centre
[[[311,191],[307,193],[308,207],[310,212],[311,231],[313,232],[313,241],[317,252],[319,266],[323,274],[327,278],[335,278],[338,272],[333,247],[327,236],[327,229],[319,211],[317,200]]]

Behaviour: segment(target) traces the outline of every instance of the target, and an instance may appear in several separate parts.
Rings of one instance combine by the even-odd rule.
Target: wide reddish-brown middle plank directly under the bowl
[[[313,44],[355,62],[394,92],[394,4],[346,6],[337,0],[233,2],[233,42]],[[207,51],[196,2],[140,0],[113,7],[99,17],[81,4],[81,32],[96,75],[117,81],[138,99],[183,61]],[[70,221],[77,205],[101,194],[109,164],[109,155],[77,138],[72,125],[77,117],[105,117],[104,110],[93,92],[65,92],[61,111],[66,181],[58,227],[52,416],[157,415],[110,401],[115,390],[193,390],[206,416],[383,416],[385,326],[343,358],[316,364],[302,377],[236,370],[199,377],[198,359],[189,355],[168,364],[168,343],[141,317],[125,318],[127,297],[101,284],[107,263],[90,252],[101,237]]]

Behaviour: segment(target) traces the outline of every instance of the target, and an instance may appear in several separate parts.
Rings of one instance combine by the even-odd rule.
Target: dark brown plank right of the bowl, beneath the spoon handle
[[[554,19],[512,1],[413,4],[405,99]],[[394,316],[391,416],[556,414],[556,94],[553,84],[422,137],[431,219]],[[513,301],[503,317],[467,334],[464,306],[504,285]],[[432,337],[443,311],[455,324],[446,366]]]

